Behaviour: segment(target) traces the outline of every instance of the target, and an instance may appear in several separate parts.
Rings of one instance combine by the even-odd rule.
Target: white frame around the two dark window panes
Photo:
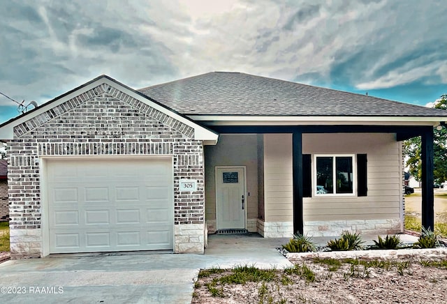
[[[336,193],[337,188],[335,187],[335,180],[337,179],[337,158],[346,158],[346,157],[350,157],[352,158],[352,193]],[[325,193],[325,194],[318,194],[318,189],[317,189],[317,168],[316,168],[316,159],[317,158],[332,158],[332,185],[334,185],[334,193]],[[314,154],[313,157],[314,160],[314,165],[312,165],[312,179],[314,181],[314,185],[313,185],[313,191],[312,193],[314,194],[314,197],[355,197],[357,194],[357,181],[358,181],[358,176],[357,176],[357,158],[356,158],[356,154],[350,153],[350,154],[337,154],[337,153],[322,153],[322,154]]]

